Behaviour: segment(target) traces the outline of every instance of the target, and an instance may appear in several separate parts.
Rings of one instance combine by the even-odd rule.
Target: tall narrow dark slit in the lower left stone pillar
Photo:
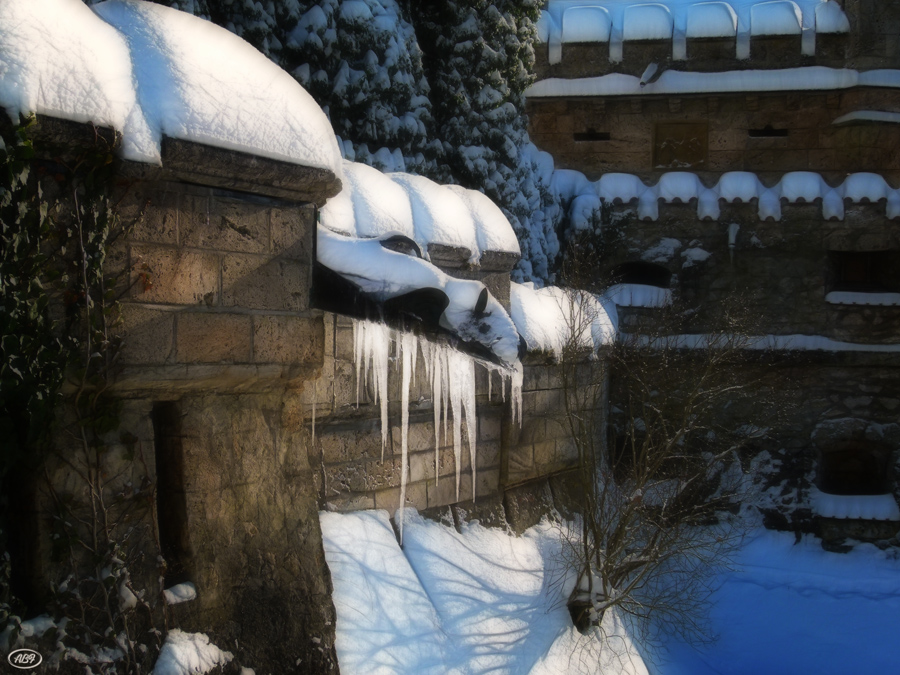
[[[184,449],[181,410],[173,401],[155,403],[153,446],[156,451],[156,517],[159,543],[166,560],[166,586],[190,580],[190,537],[184,493]]]

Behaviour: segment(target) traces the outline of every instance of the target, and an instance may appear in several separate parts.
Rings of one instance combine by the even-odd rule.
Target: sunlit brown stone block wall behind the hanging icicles
[[[353,349],[353,322],[325,315],[325,365],[315,386],[307,386],[307,416],[315,414],[315,444],[310,463],[320,466],[316,488],[328,508],[344,511],[386,509],[400,505],[401,409],[400,373],[396,359],[389,368],[389,426],[382,459],[380,407],[373,403],[371,385],[360,386]],[[577,456],[565,442],[560,425],[561,390],[554,366],[526,364],[523,387],[524,421],[513,423],[509,384],[498,373],[476,368],[477,429],[475,504],[472,468],[467,445],[468,420],[462,422],[459,496],[456,462],[450,433],[441,433],[435,481],[434,406],[431,385],[422,361],[410,388],[409,479],[406,505],[419,510],[468,503],[469,510],[502,503],[506,488],[577,466]],[[490,384],[488,379],[490,378]],[[315,411],[313,411],[315,395]],[[451,422],[452,425],[452,422]]]

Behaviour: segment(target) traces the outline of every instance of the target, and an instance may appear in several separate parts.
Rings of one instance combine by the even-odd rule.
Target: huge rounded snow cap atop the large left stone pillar
[[[93,10],[93,11],[92,11]],[[111,126],[126,159],[162,136],[340,176],[331,125],[297,82],[241,38],[151,2],[0,3],[0,105]]]

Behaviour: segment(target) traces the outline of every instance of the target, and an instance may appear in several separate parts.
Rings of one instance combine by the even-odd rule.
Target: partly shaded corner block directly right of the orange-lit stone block
[[[305,311],[311,269],[286,258],[227,253],[222,259],[222,302],[226,307]]]

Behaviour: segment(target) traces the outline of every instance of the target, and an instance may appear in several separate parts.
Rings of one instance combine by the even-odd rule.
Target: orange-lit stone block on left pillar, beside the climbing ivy
[[[219,304],[218,254],[135,244],[130,255],[131,295],[141,302]]]

